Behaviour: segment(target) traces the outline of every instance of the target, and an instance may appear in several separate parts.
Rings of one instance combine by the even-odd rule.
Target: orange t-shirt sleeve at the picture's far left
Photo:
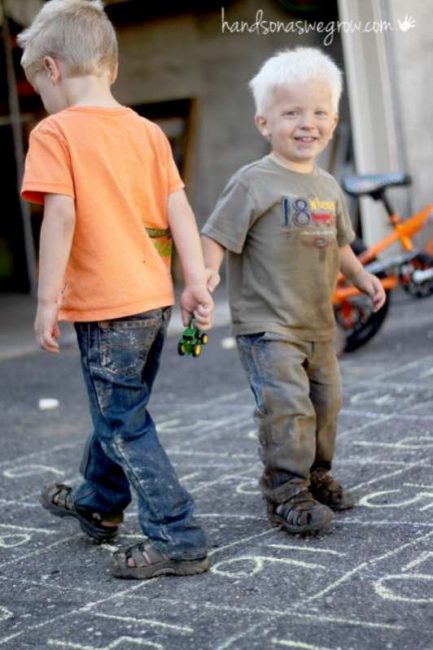
[[[55,129],[39,125],[30,134],[21,196],[43,203],[45,194],[74,198],[75,189],[66,141]]]

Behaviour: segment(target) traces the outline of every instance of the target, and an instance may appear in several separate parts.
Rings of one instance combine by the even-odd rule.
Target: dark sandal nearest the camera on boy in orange
[[[128,565],[132,559],[135,566]],[[115,578],[146,580],[158,576],[192,576],[209,568],[209,560],[173,560],[154,548],[149,541],[139,542],[113,553],[111,571]]]

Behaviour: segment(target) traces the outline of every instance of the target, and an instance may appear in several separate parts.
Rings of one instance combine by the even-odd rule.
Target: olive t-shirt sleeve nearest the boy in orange
[[[235,175],[220,195],[202,233],[232,253],[239,254],[244,247],[254,214],[254,198],[248,187]]]

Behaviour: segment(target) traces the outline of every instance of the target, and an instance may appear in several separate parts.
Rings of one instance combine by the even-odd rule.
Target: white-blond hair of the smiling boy
[[[256,104],[256,113],[266,113],[276,90],[311,79],[325,81],[331,90],[332,108],[338,113],[343,90],[343,75],[327,54],[314,47],[297,47],[278,52],[260,68],[249,83]]]

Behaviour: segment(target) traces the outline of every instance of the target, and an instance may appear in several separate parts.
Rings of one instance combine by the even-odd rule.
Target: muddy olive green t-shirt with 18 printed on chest
[[[235,335],[333,338],[338,249],[355,235],[330,174],[265,156],[232,176],[202,232],[228,250]]]

